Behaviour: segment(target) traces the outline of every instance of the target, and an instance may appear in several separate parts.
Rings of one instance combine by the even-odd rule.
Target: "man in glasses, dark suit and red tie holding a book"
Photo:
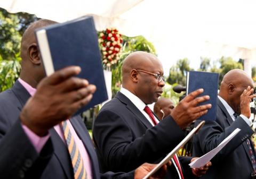
[[[199,89],[158,123],[157,117],[152,113],[153,118],[150,117],[145,110],[163,92],[165,80],[161,62],[153,54],[135,52],[126,57],[122,72],[121,91],[101,108],[93,124],[93,139],[102,172],[125,172],[144,162],[157,163],[183,139],[181,129],[211,107],[197,106],[200,101],[209,99],[209,96],[197,97],[202,93]],[[191,158],[184,160],[183,172],[191,174],[188,167]],[[175,175],[183,178],[180,163],[173,161],[172,164],[179,170],[177,173],[172,167]],[[193,169],[193,172],[201,175],[204,169]]]

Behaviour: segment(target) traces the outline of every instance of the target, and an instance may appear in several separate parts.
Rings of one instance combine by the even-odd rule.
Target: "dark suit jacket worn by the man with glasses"
[[[126,172],[142,163],[156,163],[184,137],[171,116],[152,126],[129,98],[118,92],[100,110],[93,124],[93,139],[102,172]],[[182,158],[191,173],[191,158]],[[185,167],[184,167],[185,166]],[[174,168],[174,167],[173,167]],[[177,172],[174,169],[174,173]]]

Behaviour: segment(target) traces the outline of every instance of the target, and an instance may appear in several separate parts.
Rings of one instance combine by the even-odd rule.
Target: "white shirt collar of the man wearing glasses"
[[[129,90],[125,89],[125,88],[121,88],[120,92],[124,96],[129,98],[132,101],[132,103],[140,110],[140,112],[147,118],[147,120],[150,122],[150,124],[154,126],[151,118],[149,117],[149,115],[144,110],[146,104],[138,96],[134,95],[131,91],[129,91]],[[159,123],[159,121],[157,120],[156,117],[155,117],[155,121],[157,123]]]

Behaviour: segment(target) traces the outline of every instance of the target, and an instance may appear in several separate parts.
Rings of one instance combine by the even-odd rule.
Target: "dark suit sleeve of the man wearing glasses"
[[[154,163],[170,152],[183,137],[184,133],[171,116],[135,140],[122,117],[110,110],[103,110],[93,125],[99,158],[102,157],[103,163],[113,172],[128,172],[145,162]]]

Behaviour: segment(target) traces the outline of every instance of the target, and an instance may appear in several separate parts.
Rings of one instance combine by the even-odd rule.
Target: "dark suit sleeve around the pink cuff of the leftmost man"
[[[40,178],[52,154],[49,139],[38,154],[23,130],[20,119],[11,125],[0,116],[1,178]]]

